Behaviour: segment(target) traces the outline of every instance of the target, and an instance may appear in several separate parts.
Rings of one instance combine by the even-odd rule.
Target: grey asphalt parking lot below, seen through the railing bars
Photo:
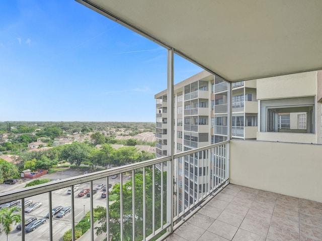
[[[65,171],[66,172],[66,171]],[[60,173],[55,173],[53,174],[48,174],[44,175],[44,178],[50,178],[51,180],[55,179],[63,179],[66,177],[70,176],[76,176],[76,175],[81,175],[82,173],[65,173],[65,174],[60,174]],[[50,176],[50,177],[49,177]],[[64,176],[64,177],[63,177]],[[61,177],[61,178],[59,178]],[[117,177],[115,179],[109,178],[109,183],[112,184],[112,187],[115,183],[119,182],[120,177]],[[128,176],[123,176],[124,182],[128,181],[130,177]],[[106,179],[99,179],[93,181],[93,188],[95,188],[98,184],[106,184]],[[7,185],[7,184],[1,184],[0,185],[0,191],[1,189],[6,189],[8,191],[8,188],[11,190],[15,188],[22,188],[25,186],[21,186],[21,183],[15,184],[15,185]],[[8,188],[6,188],[8,186]],[[75,215],[75,224],[80,221],[85,213],[87,213],[90,210],[90,197],[87,197],[87,195],[83,197],[78,197],[77,194],[79,191],[82,189],[90,188],[90,183],[81,183],[78,185],[78,190],[74,192],[74,215]],[[71,195],[67,194],[68,188],[62,188],[58,189],[52,192],[52,207],[55,206],[70,206],[71,205]],[[111,190],[111,189],[110,189]],[[102,189],[100,189],[96,194],[93,196],[93,206],[106,206],[106,198],[102,198]],[[25,218],[28,217],[37,217],[39,218],[46,218],[47,213],[49,212],[49,195],[48,193],[36,195],[36,196],[31,196],[30,198],[26,199],[32,199],[33,203],[35,202],[42,202],[42,205],[35,209],[34,211],[30,213],[25,213]],[[17,225],[13,225],[13,230],[9,234],[9,240],[11,241],[18,241],[21,240],[21,235],[22,231],[16,229]],[[56,218],[53,217],[52,219],[52,227],[53,227],[53,240],[62,240],[62,236],[65,231],[71,228],[71,212],[65,215],[62,218]],[[24,229],[23,229],[24,231]],[[44,224],[40,225],[37,227],[34,231],[31,232],[25,232],[25,239],[26,240],[33,240],[36,239],[38,240],[48,240],[49,239],[49,218],[47,218],[47,222]],[[0,240],[6,240],[6,235],[0,234]]]

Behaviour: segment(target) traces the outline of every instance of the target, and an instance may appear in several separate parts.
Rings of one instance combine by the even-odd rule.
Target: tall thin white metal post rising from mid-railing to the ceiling
[[[167,165],[167,223],[171,223],[170,232],[173,232],[173,155],[174,155],[174,49],[168,49],[168,156],[171,155],[171,161]],[[170,111],[169,111],[170,110]]]

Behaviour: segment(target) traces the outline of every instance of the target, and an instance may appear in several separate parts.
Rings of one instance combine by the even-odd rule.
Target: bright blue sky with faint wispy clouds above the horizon
[[[0,11],[0,121],[155,122],[163,47],[72,0]],[[175,57],[176,83],[200,71]]]

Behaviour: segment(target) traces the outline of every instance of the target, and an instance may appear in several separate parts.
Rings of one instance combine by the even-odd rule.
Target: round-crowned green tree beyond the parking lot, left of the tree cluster
[[[70,164],[75,164],[78,168],[81,163],[87,160],[90,153],[90,147],[82,142],[73,142],[65,145],[60,154],[61,160],[67,160]]]

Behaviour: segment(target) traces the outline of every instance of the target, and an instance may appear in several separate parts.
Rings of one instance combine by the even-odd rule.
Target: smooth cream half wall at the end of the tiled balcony
[[[322,145],[230,141],[230,182],[322,202]]]

